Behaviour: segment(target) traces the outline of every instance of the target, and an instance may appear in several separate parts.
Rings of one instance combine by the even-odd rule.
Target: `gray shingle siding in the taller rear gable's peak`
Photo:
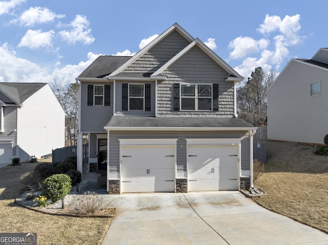
[[[177,31],[173,31],[119,73],[119,76],[138,76],[140,73],[154,73],[182,49],[187,47],[189,43],[185,37],[181,36]]]

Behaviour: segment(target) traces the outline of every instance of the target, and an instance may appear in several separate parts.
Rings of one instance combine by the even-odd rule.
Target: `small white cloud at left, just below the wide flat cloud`
[[[39,47],[52,47],[52,38],[55,35],[53,30],[42,32],[41,30],[28,30],[25,36],[20,40],[18,47],[28,47],[37,49]]]

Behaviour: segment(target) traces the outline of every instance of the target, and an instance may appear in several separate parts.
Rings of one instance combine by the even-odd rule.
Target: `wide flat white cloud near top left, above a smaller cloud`
[[[18,22],[24,26],[34,26],[34,24],[47,23],[55,18],[63,18],[64,14],[55,14],[51,10],[42,7],[31,7],[26,10],[18,19],[12,21],[12,23]]]

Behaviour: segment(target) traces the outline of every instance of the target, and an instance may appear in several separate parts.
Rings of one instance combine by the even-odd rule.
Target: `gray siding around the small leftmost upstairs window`
[[[88,106],[88,84],[104,85],[110,84],[110,106]],[[81,115],[80,131],[81,132],[106,132],[104,126],[109,122],[113,115],[113,83],[109,82],[81,82]]]

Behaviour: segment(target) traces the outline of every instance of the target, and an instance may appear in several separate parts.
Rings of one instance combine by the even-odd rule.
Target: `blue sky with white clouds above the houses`
[[[328,47],[328,1],[0,1],[0,82],[67,86],[98,55],[132,55],[178,23],[247,78]]]

